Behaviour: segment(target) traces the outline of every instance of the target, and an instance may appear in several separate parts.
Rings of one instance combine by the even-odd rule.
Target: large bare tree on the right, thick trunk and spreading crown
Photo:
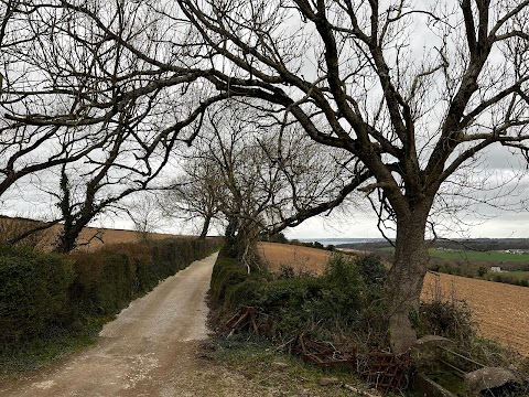
[[[406,351],[438,192],[486,148],[527,158],[529,1],[179,3],[218,90],[276,104],[369,170],[363,191],[396,226],[386,288],[390,343]]]

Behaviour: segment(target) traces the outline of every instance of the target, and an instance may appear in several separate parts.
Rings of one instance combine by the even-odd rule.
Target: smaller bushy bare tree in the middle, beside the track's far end
[[[364,181],[360,170],[349,170],[349,153],[322,150],[294,127],[278,124],[256,101],[210,109],[187,154],[198,180],[169,195],[206,223],[212,208],[220,212],[226,254],[249,270],[258,262],[261,235],[333,210],[347,195],[344,191]]]

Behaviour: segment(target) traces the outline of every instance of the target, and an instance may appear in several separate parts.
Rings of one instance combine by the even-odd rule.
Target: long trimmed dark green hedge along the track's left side
[[[72,255],[0,246],[0,344],[39,337],[50,326],[116,314],[219,243],[175,238]]]

